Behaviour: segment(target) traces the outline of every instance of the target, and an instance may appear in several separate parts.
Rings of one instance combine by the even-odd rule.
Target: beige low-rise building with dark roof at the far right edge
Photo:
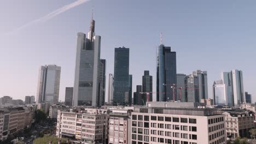
[[[249,130],[254,128],[252,113],[242,111],[226,111],[223,113],[226,120],[226,136],[228,139],[236,137],[249,137]]]

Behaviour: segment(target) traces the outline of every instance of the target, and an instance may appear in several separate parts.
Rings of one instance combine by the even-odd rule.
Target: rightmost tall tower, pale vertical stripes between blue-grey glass
[[[243,90],[242,70],[231,70],[222,73],[222,80],[228,92],[228,105],[235,106],[245,103],[245,91]]]

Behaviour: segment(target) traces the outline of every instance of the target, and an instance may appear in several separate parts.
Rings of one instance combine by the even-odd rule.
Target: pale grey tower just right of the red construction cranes
[[[197,76],[199,101],[208,99],[207,71],[196,70],[193,75]]]

